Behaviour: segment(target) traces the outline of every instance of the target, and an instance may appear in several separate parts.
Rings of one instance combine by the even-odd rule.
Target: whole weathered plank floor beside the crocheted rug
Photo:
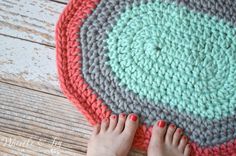
[[[0,156],[86,153],[92,128],[56,73],[54,29],[66,3],[0,0]]]

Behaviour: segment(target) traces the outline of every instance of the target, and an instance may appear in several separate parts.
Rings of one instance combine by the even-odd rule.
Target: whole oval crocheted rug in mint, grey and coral
[[[56,50],[61,88],[92,125],[134,112],[134,148],[164,119],[194,155],[236,154],[236,1],[71,0]]]

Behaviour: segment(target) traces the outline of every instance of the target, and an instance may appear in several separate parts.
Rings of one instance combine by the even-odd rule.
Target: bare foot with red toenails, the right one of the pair
[[[148,156],[189,156],[190,145],[183,131],[160,120],[152,129]]]

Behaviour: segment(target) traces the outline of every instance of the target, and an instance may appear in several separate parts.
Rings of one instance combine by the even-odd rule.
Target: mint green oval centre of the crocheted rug
[[[121,13],[106,62],[120,85],[155,105],[220,119],[236,110],[236,29],[156,1]]]

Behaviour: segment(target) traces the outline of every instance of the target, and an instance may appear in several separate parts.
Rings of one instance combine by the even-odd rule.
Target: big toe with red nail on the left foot
[[[130,137],[133,137],[138,128],[138,116],[136,114],[129,114],[125,122],[125,128],[123,133]]]

